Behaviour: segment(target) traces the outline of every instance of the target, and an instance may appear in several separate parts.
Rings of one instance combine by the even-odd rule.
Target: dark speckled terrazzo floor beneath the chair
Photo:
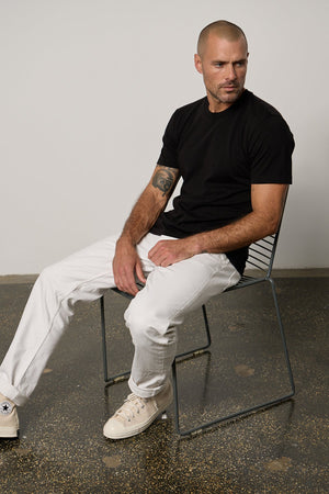
[[[293,401],[188,439],[173,409],[140,436],[106,440],[102,426],[127,394],[104,390],[99,304],[78,304],[29,404],[21,435],[0,441],[0,493],[328,493],[329,278],[276,280],[296,383]],[[0,359],[32,284],[0,284]],[[129,367],[126,301],[106,294],[113,371]],[[182,426],[287,388],[270,292],[227,293],[208,306],[211,351],[179,364]],[[197,345],[201,314],[181,332]]]

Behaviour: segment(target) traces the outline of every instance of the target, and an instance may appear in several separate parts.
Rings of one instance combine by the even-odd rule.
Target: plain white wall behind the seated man
[[[296,141],[277,268],[328,267],[328,0],[0,0],[0,274],[121,229],[179,105],[198,32],[249,40],[246,87]]]

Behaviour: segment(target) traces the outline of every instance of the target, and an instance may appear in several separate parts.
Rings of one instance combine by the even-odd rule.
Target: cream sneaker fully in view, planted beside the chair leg
[[[104,425],[104,436],[110,439],[124,439],[143,433],[171,402],[170,382],[159,394],[149,398],[129,394],[122,407]]]

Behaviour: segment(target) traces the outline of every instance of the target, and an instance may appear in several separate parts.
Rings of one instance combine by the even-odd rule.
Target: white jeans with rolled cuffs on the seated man
[[[99,299],[115,285],[112,259],[116,236],[99,242],[46,268],[31,292],[13,341],[0,367],[0,392],[22,405],[34,391],[77,301]],[[125,312],[135,346],[131,390],[157,394],[175,355],[177,326],[186,312],[238,282],[240,274],[224,254],[200,254],[168,268],[155,266],[148,251],[160,239],[148,234],[138,245],[145,288]]]

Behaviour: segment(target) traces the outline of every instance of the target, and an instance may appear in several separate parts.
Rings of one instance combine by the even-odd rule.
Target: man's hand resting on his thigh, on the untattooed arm
[[[160,240],[148,252],[148,258],[156,265],[167,268],[174,262],[198,254],[196,237],[191,236],[179,240]]]

